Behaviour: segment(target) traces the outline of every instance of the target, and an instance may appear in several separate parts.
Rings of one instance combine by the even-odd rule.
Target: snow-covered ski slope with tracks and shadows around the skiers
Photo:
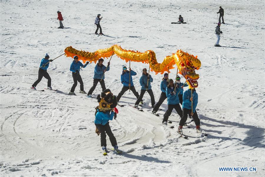
[[[1,3],[1,176],[263,176],[264,175],[264,1],[0,1]],[[222,6],[225,22],[220,45],[214,30]],[[56,11],[64,27],[57,29]],[[263,12],[262,12],[263,11]],[[103,16],[103,33],[95,35],[96,15]],[[170,24],[182,15],[188,24]],[[52,28],[51,28],[52,27]],[[201,69],[197,112],[208,137],[195,133],[195,124],[177,133],[179,116],[162,125],[151,114],[144,95],[144,112],[130,107],[136,99],[126,92],[110,126],[119,148],[102,156],[95,134],[96,99],[67,93],[73,84],[72,58],[54,60],[48,68],[57,92],[29,89],[38,77],[45,53],[53,59],[72,46],[94,52],[119,44],[130,50],[153,50],[158,62],[182,49],[197,55]],[[106,60],[104,61],[106,65]],[[105,84],[117,95],[122,65],[113,56]],[[92,86],[94,66],[80,72],[85,91]],[[143,63],[131,62],[136,90]],[[150,72],[155,100],[163,75]],[[169,78],[175,78],[176,69]],[[182,79],[184,82],[184,80]],[[47,87],[45,78],[38,90]],[[79,91],[79,84],[75,92]],[[100,94],[98,85],[93,93]],[[111,148],[107,138],[108,148]],[[223,171],[218,167],[256,167],[256,171]],[[263,174],[263,175],[262,175]]]

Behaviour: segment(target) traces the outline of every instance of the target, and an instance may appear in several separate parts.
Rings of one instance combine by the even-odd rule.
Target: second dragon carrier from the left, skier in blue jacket
[[[80,61],[78,61],[78,57],[74,56],[74,61],[72,62],[71,66],[70,66],[70,71],[72,71],[72,77],[74,79],[74,84],[71,88],[71,91],[69,92],[69,95],[75,95],[74,90],[75,87],[77,86],[77,81],[80,83],[80,93],[84,93],[86,94],[85,90],[84,90],[84,84],[80,75],[80,67],[85,68],[89,63],[86,62],[86,64],[82,64]]]

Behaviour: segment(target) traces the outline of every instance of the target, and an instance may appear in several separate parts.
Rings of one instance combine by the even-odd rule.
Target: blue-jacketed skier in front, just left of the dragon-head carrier
[[[177,111],[180,118],[182,117],[182,110],[179,105],[178,95],[174,91],[174,81],[172,79],[168,80],[168,87],[166,88],[166,95],[168,98],[168,110],[164,114],[162,124],[167,125],[168,117],[171,115],[173,108]]]

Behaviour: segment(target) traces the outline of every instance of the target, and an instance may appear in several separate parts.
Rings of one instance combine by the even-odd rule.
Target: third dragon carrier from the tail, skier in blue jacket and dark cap
[[[104,81],[104,79],[105,79],[104,73],[106,71],[110,70],[110,62],[108,62],[107,67],[105,67],[103,65],[103,62],[104,62],[104,59],[103,58],[100,58],[98,60],[98,63],[95,66],[94,77],[93,77],[93,79],[94,79],[93,85],[92,85],[92,87],[90,88],[90,90],[87,93],[87,97],[89,97],[89,98],[92,98],[92,93],[95,90],[98,82],[100,82],[102,91],[106,89],[106,87],[105,87],[105,81]]]

